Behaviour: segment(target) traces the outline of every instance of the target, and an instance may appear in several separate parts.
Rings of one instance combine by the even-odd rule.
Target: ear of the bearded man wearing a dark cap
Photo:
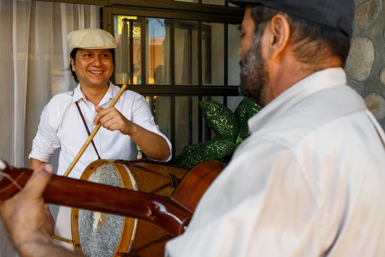
[[[290,25],[285,16],[275,15],[265,32],[267,36],[267,58],[275,59],[285,50],[290,38]]]

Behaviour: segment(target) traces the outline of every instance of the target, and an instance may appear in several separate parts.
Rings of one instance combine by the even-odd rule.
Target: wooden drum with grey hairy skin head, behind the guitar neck
[[[188,168],[140,161],[93,161],[81,180],[170,197]],[[113,200],[113,199],[112,199]],[[72,240],[87,257],[163,257],[171,239],[148,222],[72,208]]]

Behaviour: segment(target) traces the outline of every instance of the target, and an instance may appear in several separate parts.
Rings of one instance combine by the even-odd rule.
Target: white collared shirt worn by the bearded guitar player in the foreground
[[[167,257],[385,256],[385,135],[342,68],[298,82],[249,129]]]

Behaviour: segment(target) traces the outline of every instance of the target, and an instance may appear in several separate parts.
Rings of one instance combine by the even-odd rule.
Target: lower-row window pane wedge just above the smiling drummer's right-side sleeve
[[[146,96],[146,101],[155,124],[171,142],[171,97],[170,96]]]

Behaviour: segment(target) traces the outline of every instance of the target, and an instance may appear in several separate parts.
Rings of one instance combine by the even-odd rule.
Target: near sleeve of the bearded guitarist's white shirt
[[[317,208],[293,153],[262,143],[233,157],[166,257],[318,256]]]

